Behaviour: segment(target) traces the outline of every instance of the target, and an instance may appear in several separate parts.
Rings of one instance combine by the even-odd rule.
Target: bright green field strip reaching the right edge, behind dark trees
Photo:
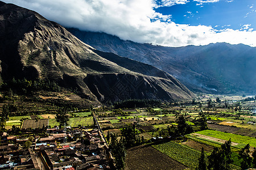
[[[232,142],[241,143],[243,145],[247,145],[249,143],[250,146],[256,147],[256,139],[247,137],[247,136],[242,136],[242,135],[237,135],[232,133],[225,133],[217,130],[203,130],[203,131],[197,131],[197,133],[202,135],[207,135],[209,137],[224,139],[226,141],[228,141],[231,138]]]

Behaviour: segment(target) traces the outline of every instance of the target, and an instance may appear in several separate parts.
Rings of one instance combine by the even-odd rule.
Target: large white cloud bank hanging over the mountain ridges
[[[211,42],[256,46],[256,31],[216,30],[205,25],[176,24],[171,20],[171,15],[156,12],[156,3],[151,0],[4,1],[37,11],[65,27],[106,32],[123,40],[164,46],[207,45]],[[217,0],[211,0],[213,1]]]

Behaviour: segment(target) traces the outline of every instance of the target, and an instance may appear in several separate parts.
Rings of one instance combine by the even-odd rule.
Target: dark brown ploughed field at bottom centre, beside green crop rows
[[[176,160],[151,146],[137,146],[127,150],[126,167],[129,169],[186,169]]]

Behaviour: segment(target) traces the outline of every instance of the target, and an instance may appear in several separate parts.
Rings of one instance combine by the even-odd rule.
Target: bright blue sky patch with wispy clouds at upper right
[[[211,25],[218,30],[225,28],[244,29],[243,25],[250,25],[248,29],[255,29],[255,0],[202,2],[205,1],[200,3],[191,0],[185,4],[158,7],[155,8],[155,11],[163,15],[171,15],[171,20],[176,24]],[[161,1],[156,3],[162,4]]]

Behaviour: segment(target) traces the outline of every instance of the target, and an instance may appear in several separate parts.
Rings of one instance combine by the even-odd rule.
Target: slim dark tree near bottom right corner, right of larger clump
[[[250,145],[249,143],[242,148],[242,150],[239,152],[239,158],[242,159],[241,162],[241,168],[242,169],[248,169],[251,166],[251,157],[249,155],[250,152]]]

